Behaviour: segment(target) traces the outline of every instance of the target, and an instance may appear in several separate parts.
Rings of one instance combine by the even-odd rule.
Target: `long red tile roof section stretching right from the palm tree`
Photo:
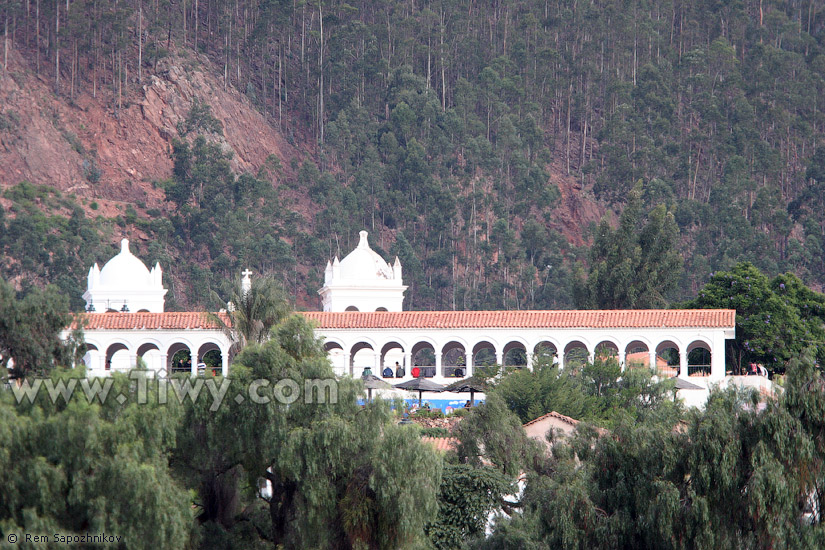
[[[733,309],[566,311],[402,311],[303,315],[322,329],[429,328],[733,328]]]

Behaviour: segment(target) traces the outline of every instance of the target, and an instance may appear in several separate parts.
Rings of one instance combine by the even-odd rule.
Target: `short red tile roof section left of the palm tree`
[[[226,313],[218,315],[229,323]],[[71,329],[84,321],[84,330],[204,330],[219,329],[217,323],[210,320],[201,311],[164,312],[164,313],[80,313],[75,316]]]

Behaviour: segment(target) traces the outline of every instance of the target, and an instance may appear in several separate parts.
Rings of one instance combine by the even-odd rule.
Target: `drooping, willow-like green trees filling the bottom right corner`
[[[819,548],[822,376],[810,357],[785,396],[714,393],[686,424],[620,419],[538,463],[524,513],[478,548]]]

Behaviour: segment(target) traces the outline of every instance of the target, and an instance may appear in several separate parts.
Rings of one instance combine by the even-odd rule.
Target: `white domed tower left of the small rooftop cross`
[[[129,239],[120,241],[120,253],[89,269],[88,287],[83,293],[86,311],[123,311],[163,313],[163,272],[160,264],[149,271],[140,259],[129,251]]]

